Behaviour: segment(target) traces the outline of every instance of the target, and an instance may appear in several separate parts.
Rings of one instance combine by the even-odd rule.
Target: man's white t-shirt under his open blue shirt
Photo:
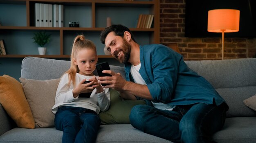
[[[138,83],[141,85],[146,85],[145,80],[139,74],[140,66],[141,66],[140,63],[139,63],[139,65],[136,65],[136,66],[132,65],[130,72],[132,74],[132,77],[133,77],[133,80],[135,83]],[[172,111],[173,108],[175,107],[175,105],[164,104],[162,102],[153,102],[153,101],[151,101],[151,102],[155,108],[161,109],[161,110]]]

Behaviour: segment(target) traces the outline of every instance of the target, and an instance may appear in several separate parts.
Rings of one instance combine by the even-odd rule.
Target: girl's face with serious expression
[[[79,68],[79,74],[85,76],[93,76],[98,57],[93,49],[82,49],[78,51],[74,58],[74,64]]]

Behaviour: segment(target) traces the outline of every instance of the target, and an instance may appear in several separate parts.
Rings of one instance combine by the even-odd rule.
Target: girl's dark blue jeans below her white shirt
[[[55,128],[63,131],[62,143],[94,143],[101,121],[92,110],[62,106],[55,114]]]

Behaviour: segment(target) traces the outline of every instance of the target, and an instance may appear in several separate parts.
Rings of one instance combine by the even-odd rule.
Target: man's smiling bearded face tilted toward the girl
[[[105,45],[112,56],[120,63],[128,62],[130,58],[131,45],[121,36],[116,36],[115,32],[110,32],[106,39]]]

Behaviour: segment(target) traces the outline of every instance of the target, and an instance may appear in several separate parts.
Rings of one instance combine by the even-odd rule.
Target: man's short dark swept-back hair
[[[115,32],[116,36],[121,36],[121,37],[124,37],[124,32],[128,31],[131,34],[132,40],[135,41],[134,36],[133,36],[132,32],[130,31],[130,29],[127,28],[126,26],[118,24],[118,25],[109,26],[109,27],[105,28],[103,31],[101,31],[101,35],[100,35],[101,43],[103,43],[103,44],[105,43],[105,39],[106,39],[108,33],[112,32],[112,31]]]

